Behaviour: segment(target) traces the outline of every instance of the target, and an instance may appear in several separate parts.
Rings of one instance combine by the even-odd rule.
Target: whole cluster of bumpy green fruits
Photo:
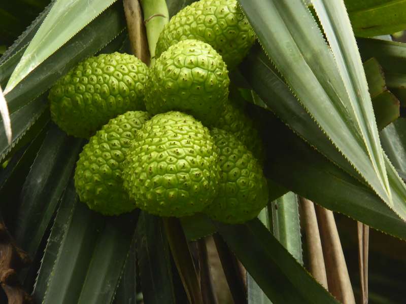
[[[261,141],[244,107],[229,99],[227,69],[254,40],[235,0],[200,0],[164,27],[150,69],[116,52],[58,80],[49,93],[52,120],[90,137],[74,176],[80,200],[104,215],[138,207],[226,223],[257,216],[268,199],[255,158]]]

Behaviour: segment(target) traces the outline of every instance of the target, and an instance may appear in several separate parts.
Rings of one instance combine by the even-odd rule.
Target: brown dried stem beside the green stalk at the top
[[[123,0],[123,5],[131,52],[142,62],[149,65],[150,54],[140,2],[139,0]]]

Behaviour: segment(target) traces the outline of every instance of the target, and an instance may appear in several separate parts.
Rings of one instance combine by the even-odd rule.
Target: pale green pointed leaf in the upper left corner
[[[57,0],[11,75],[5,94],[115,1]]]

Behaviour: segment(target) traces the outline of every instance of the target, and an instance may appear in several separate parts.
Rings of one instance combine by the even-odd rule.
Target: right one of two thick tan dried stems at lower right
[[[316,205],[329,291],[341,302],[355,304],[339,232],[332,211]]]

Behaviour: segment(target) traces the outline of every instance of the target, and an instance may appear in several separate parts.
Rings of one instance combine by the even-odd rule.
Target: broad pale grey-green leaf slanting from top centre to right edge
[[[299,101],[362,178],[392,205],[383,182],[385,166],[375,158],[381,170],[374,170],[366,134],[357,124],[339,68],[310,12],[300,1],[240,2],[263,48]],[[374,145],[380,146],[379,141]],[[403,208],[398,212],[406,218]]]

